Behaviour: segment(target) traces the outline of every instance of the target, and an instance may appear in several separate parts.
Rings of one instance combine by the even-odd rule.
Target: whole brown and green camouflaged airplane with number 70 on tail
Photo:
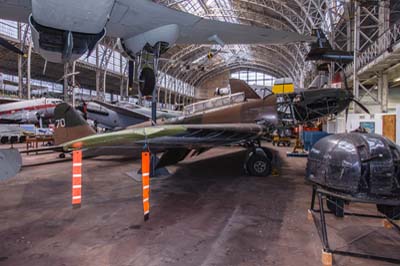
[[[245,95],[250,98],[246,98]],[[242,98],[240,98],[242,96]],[[56,108],[55,138],[64,151],[74,149],[129,147],[139,152],[143,146],[152,153],[162,153],[157,168],[175,164],[188,156],[203,153],[216,146],[242,146],[248,150],[245,168],[255,176],[266,176],[271,171],[271,153],[260,146],[260,138],[280,123],[282,117],[292,116],[295,123],[336,115],[344,111],[353,95],[343,89],[322,89],[294,93],[283,104],[289,105],[286,114],[279,112],[277,96],[264,98],[256,94],[236,93],[234,102],[211,108],[206,103],[195,103],[186,114],[169,120],[138,124],[125,130],[96,135],[87,123],[68,104]],[[209,100],[208,103],[215,101]],[[199,106],[202,106],[201,109]]]

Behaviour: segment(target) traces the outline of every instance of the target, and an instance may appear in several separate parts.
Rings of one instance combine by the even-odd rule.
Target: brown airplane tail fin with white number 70
[[[56,120],[54,131],[56,145],[96,134],[85,119],[67,103],[57,105],[54,116]]]

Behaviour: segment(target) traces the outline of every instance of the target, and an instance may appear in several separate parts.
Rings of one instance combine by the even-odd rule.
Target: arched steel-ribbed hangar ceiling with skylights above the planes
[[[313,28],[330,31],[343,8],[339,0],[155,0],[159,4],[198,16],[232,23],[294,31],[310,35]],[[212,59],[206,55],[221,50]],[[247,67],[275,77],[291,77],[297,84],[311,65],[304,61],[308,44],[230,45],[224,47],[175,46],[161,63],[164,73],[191,85],[216,73]]]

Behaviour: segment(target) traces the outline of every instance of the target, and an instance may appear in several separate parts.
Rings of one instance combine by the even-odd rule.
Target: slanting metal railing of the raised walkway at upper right
[[[391,26],[386,32],[377,38],[377,40],[361,52],[357,57],[356,70],[359,71],[376,58],[390,51],[395,44],[400,42],[400,25],[395,24]],[[345,72],[347,76],[351,76],[354,70],[354,63],[347,65]]]

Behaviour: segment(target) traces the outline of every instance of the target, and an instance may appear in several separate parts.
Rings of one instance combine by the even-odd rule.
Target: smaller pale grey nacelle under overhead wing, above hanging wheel
[[[134,58],[146,46],[154,47],[158,42],[163,44],[162,50],[166,50],[175,44],[179,37],[179,27],[176,24],[165,25],[128,39],[121,39],[125,52]]]

